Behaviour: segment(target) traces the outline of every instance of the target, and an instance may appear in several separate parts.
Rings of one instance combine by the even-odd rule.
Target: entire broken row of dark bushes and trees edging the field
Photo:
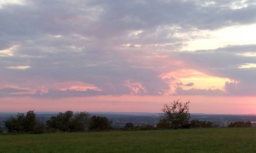
[[[135,126],[132,122],[126,123],[121,129],[125,131],[136,130],[161,130],[161,129],[188,129],[199,127],[216,127],[212,122],[198,119],[190,119],[189,103],[182,103],[179,99],[174,100],[169,105],[165,104],[162,108],[163,118],[157,123],[156,127],[152,125]],[[18,113],[16,117],[4,121],[8,133],[45,133],[45,132],[84,132],[84,131],[105,131],[112,130],[113,120],[105,116],[91,116],[88,112],[72,111],[58,113],[52,116],[46,122],[40,122],[36,119],[34,111]],[[230,123],[228,127],[251,127],[251,122],[238,121]],[[0,129],[0,133],[3,131]]]

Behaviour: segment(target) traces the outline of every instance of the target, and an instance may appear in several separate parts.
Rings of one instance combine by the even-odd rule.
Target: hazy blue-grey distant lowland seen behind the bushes
[[[4,120],[10,118],[10,116],[15,117],[17,113],[1,113],[0,112],[0,127],[5,129]],[[50,119],[51,116],[56,116],[57,112],[38,112],[36,113],[37,118],[45,122]],[[127,122],[132,122],[135,125],[146,125],[150,124],[156,126],[159,119],[163,116],[160,113],[113,113],[113,112],[91,112],[91,115],[106,116],[109,119],[113,119],[112,126],[114,128],[120,128]],[[210,121],[217,125],[218,127],[227,127],[230,122],[234,121],[251,121],[252,126],[256,126],[256,115],[227,115],[227,114],[191,114],[191,119],[199,119],[203,121]]]

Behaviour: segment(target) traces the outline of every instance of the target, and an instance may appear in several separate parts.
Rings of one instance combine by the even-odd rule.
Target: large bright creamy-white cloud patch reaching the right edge
[[[182,50],[217,49],[227,45],[256,44],[255,29],[256,24],[237,25],[214,31],[198,30],[194,32],[194,35],[205,36],[202,38],[191,39],[187,42],[187,46],[184,46]]]

